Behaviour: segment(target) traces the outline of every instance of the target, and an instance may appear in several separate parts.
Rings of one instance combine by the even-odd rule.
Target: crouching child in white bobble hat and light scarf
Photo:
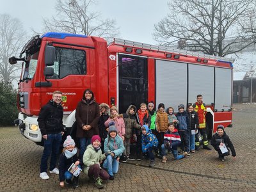
[[[72,140],[71,136],[67,136],[67,139],[63,143],[63,152],[60,155],[60,162],[59,162],[59,177],[60,177],[60,186],[64,187],[64,180],[66,184],[72,184],[72,173],[68,172],[68,168],[71,166],[72,163],[76,164],[77,166],[80,164],[78,159],[78,149],[75,147],[76,143]],[[78,188],[78,177],[74,177],[72,188]]]

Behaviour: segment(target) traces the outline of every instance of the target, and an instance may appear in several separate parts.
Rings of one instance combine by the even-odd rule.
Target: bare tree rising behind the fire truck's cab
[[[44,19],[45,31],[100,36],[107,41],[118,35],[115,20],[100,19],[99,12],[92,12],[95,0],[58,0],[56,15]]]

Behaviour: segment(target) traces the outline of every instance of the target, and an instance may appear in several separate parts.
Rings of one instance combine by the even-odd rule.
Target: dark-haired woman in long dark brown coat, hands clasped
[[[99,134],[100,108],[95,101],[92,90],[86,89],[83,99],[78,102],[76,108],[76,137],[80,141],[80,158],[83,158],[87,145],[90,145],[92,136]]]

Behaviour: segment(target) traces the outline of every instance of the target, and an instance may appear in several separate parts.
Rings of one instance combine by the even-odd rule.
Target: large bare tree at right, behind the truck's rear
[[[226,56],[253,44],[245,22],[252,0],[173,0],[168,6],[168,16],[154,26],[161,45],[179,41],[189,51]]]

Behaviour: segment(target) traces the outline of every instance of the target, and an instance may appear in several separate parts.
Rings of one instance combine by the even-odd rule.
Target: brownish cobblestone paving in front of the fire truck
[[[148,160],[120,164],[115,180],[100,191],[256,191],[256,105],[234,105],[233,127],[227,128],[237,158],[218,160],[214,150],[200,150],[190,157],[167,163]],[[23,138],[17,127],[0,127],[0,191],[99,191],[82,173],[77,189],[60,188],[58,175],[39,177],[43,147]]]

